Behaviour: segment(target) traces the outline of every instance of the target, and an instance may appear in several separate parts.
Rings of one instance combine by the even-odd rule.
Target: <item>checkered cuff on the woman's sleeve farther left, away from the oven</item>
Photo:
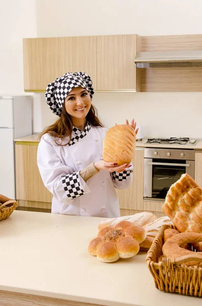
[[[84,190],[80,186],[79,171],[67,174],[63,177],[62,182],[65,192],[70,199],[75,199],[76,197],[85,194]]]

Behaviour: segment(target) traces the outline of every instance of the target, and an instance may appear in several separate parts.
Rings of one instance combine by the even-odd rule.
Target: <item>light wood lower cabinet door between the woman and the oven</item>
[[[133,182],[127,189],[117,189],[120,209],[143,211],[144,150],[135,149]]]

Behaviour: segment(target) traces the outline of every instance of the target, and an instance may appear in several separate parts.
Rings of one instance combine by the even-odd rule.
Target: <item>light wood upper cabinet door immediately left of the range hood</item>
[[[97,36],[97,89],[136,89],[136,34]]]

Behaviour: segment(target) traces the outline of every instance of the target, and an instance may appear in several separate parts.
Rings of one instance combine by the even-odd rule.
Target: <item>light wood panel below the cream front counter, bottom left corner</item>
[[[85,302],[78,302],[72,300],[66,300],[61,298],[39,296],[33,294],[24,294],[11,291],[0,290],[0,305],[2,306],[26,306],[26,305],[37,305],[37,306],[103,306],[101,304],[92,304]]]

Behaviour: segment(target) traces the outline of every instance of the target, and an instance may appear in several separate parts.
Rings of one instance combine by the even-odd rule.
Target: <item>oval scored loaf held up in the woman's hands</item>
[[[136,134],[131,125],[112,126],[103,141],[102,158],[108,163],[118,166],[130,164],[135,152]]]

